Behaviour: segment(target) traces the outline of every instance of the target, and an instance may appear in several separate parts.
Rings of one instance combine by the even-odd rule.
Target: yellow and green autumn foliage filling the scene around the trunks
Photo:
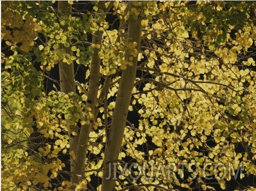
[[[198,177],[188,178],[193,177],[188,165],[185,178],[178,168],[171,177],[156,179],[130,179],[127,170],[126,177],[118,176],[116,189],[214,190],[202,174],[206,163],[232,163],[235,170],[242,164],[242,177],[256,176],[255,2],[148,1],[131,12],[127,2],[114,2],[110,15],[120,28],[97,2],[90,3],[91,10],[70,3],[73,14],[67,17],[53,8],[54,2],[2,2],[2,189],[71,190],[66,158],[75,158],[69,152],[69,140],[76,136],[68,134],[72,125],[93,126],[86,178],[75,190],[89,189],[93,177],[101,178],[105,130],[113,120],[118,82],[136,56],[139,65],[121,135],[120,166],[147,163],[157,171],[159,164],[196,163]],[[139,52],[138,44],[127,39],[130,16],[142,16]],[[91,42],[96,31],[103,32],[101,44]],[[63,47],[71,47],[72,55]],[[101,84],[98,113],[91,113],[86,102],[95,48]],[[59,92],[57,80],[56,89],[46,88],[59,61],[85,70],[76,93]],[[106,79],[107,95],[101,97]],[[133,170],[138,174],[138,168]],[[207,169],[207,174],[214,170]],[[215,179],[224,190],[230,181],[229,175]],[[250,186],[241,189],[256,189]],[[101,185],[94,187],[100,190]]]

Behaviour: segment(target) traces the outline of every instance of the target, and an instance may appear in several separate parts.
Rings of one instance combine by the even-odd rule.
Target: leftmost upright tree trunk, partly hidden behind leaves
[[[67,1],[58,1],[58,10],[62,12],[63,16],[70,16],[72,7]],[[67,30],[67,27],[65,26],[63,30]],[[67,42],[70,42],[70,39],[67,39]],[[69,53],[72,55],[71,46],[70,47],[61,47],[65,50],[66,53]],[[71,63],[68,65],[67,63],[63,63],[62,61],[59,61],[59,81],[61,83],[61,92],[67,94],[70,92],[75,93],[75,78],[74,78],[74,64]],[[70,137],[70,152],[76,151],[76,145],[78,142],[78,137],[71,137],[72,132],[78,133],[78,128],[75,126],[70,126],[69,130],[69,137]],[[71,175],[74,171],[74,163],[75,161],[70,157],[70,171]],[[72,176],[71,176],[72,179]]]

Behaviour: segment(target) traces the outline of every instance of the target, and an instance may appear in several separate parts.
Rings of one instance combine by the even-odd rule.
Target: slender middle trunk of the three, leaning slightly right
[[[101,1],[98,4],[98,9],[108,12],[113,6],[113,2],[105,7],[105,1]],[[101,47],[101,42],[103,38],[102,31],[96,31],[93,34],[92,44],[99,44]],[[97,46],[96,46],[97,47]],[[90,111],[87,111],[86,115],[89,115],[91,112],[94,117],[97,117],[97,95],[99,90],[99,80],[100,80],[100,58],[98,53],[100,48],[92,48],[92,60],[90,65],[90,76],[89,76],[89,89],[86,108],[90,108]],[[89,134],[93,126],[94,119],[90,120],[90,123],[82,125],[79,133],[78,145],[75,152],[75,167],[74,172],[76,176],[73,176],[73,183],[79,183],[80,179],[84,179],[84,162],[86,159],[86,153],[88,150]]]

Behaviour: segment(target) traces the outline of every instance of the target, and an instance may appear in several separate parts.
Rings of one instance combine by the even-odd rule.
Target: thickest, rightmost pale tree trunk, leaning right
[[[140,6],[135,6],[138,2],[129,2],[129,12],[132,8],[140,9]],[[135,49],[139,52],[141,35],[141,17],[133,19],[133,16],[129,16],[128,19],[128,39],[129,42],[136,42]],[[129,53],[126,52],[125,59],[129,61]],[[116,162],[121,150],[121,144],[123,139],[124,128],[126,124],[126,118],[128,108],[131,101],[132,89],[134,86],[134,80],[136,76],[136,66],[138,63],[138,54],[133,59],[133,66],[128,66],[122,73],[121,81],[119,84],[118,94],[115,103],[115,109],[113,114],[113,121],[106,132],[107,143],[104,154],[104,170],[101,191],[113,191],[115,190],[115,180],[113,166],[109,169],[109,163]],[[110,166],[111,167],[111,166]],[[110,178],[108,178],[111,173]]]

